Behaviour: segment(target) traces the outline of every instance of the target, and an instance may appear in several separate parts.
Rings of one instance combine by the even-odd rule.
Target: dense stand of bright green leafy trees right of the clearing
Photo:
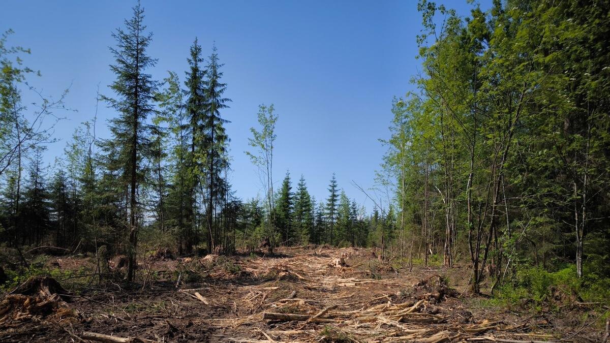
[[[398,251],[466,259],[475,292],[528,265],[610,275],[610,3],[418,9],[422,73],[383,141]]]

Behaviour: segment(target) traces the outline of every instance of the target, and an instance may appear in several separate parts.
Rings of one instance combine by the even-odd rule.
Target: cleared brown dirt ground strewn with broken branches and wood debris
[[[409,270],[381,263],[364,248],[274,252],[143,259],[138,272],[146,283],[109,278],[98,286],[91,276],[87,287],[81,283],[81,291],[65,298],[72,311],[62,316],[0,313],[0,341],[88,342],[88,333],[123,342],[603,339],[603,330],[587,321],[586,305],[513,312],[490,307],[486,297],[463,295],[465,266]],[[92,262],[57,258],[49,263],[83,269]],[[59,281],[70,289],[73,280]]]

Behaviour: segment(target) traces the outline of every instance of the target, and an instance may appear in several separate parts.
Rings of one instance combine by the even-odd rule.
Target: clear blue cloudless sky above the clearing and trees
[[[467,15],[465,1],[438,1]],[[483,9],[490,1],[483,1]],[[32,49],[26,64],[42,73],[31,83],[46,95],[59,95],[70,84],[65,115],[56,130],[61,142],[49,146],[46,159],[63,146],[82,121],[91,120],[96,87],[112,95],[108,65],[111,33],[132,14],[134,1],[2,1],[0,30],[13,29],[9,45]],[[209,55],[215,41],[224,66],[223,112],[231,120],[231,182],[236,195],[255,197],[260,182],[243,151],[257,107],[273,103],[276,125],[274,179],[278,186],[290,170],[293,186],[303,174],[310,193],[326,198],[337,174],[348,196],[373,206],[351,180],[373,186],[389,135],[393,96],[412,88],[417,73],[415,35],[421,29],[417,1],[150,1],[142,0],[145,23],[154,33],[151,70],[161,80],[167,70],[184,81],[188,48],[199,38]],[[115,115],[99,108],[98,136],[108,137],[106,120]],[[262,192],[261,192],[262,193]]]

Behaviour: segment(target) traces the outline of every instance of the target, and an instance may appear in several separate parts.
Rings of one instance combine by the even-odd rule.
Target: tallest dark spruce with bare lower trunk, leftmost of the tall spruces
[[[117,79],[110,88],[116,98],[104,96],[104,99],[119,115],[110,120],[112,139],[102,144],[108,154],[107,168],[117,171],[114,174],[118,178],[116,181],[127,190],[126,198],[129,200],[129,281],[134,280],[138,226],[143,215],[138,201],[138,186],[145,180],[145,161],[150,156],[151,126],[146,123],[146,117],[154,110],[152,103],[157,90],[157,82],[146,73],[157,60],[146,54],[152,33],[145,32],[144,9],[140,2],[133,7],[133,12],[132,18],[124,22],[125,28],[119,28],[112,34],[117,46],[110,48],[116,62],[110,66],[110,70]]]

